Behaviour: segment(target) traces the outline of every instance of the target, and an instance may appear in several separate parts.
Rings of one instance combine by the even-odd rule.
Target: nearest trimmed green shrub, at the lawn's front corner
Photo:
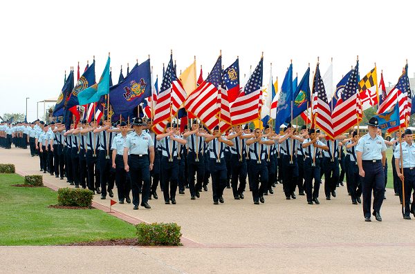
[[[142,246],[181,246],[181,227],[176,223],[140,223],[136,225],[138,244]]]

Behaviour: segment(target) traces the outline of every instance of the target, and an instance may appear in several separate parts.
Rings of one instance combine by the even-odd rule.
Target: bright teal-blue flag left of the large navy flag
[[[111,59],[108,57],[107,64],[105,65],[104,71],[102,72],[100,81],[98,84],[92,85],[89,88],[85,88],[80,93],[78,93],[78,101],[80,105],[86,105],[89,103],[95,103],[100,101],[102,95],[107,95],[109,93],[109,64]]]

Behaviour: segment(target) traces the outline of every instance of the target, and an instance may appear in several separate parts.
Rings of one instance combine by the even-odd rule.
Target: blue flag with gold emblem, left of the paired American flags
[[[306,73],[304,73],[304,76],[299,82],[299,86],[295,90],[293,98],[293,118],[291,119],[290,115],[290,117],[286,119],[287,123],[306,111],[307,106],[311,106],[310,68],[307,68]]]

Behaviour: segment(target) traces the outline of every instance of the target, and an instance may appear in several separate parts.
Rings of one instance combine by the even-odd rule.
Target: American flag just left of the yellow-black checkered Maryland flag
[[[349,128],[358,124],[362,118],[362,108],[358,97],[358,70],[359,64],[351,70],[341,96],[333,108],[331,121],[333,126],[333,137],[345,133]]]

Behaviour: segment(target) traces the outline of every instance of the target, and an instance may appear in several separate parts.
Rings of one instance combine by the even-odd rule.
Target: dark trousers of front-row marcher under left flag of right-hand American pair
[[[306,157],[306,159],[304,159],[304,179],[304,188],[306,190],[307,202],[311,202],[313,199],[318,198],[320,191],[320,159],[315,158],[315,166],[313,166],[313,159],[311,157]]]

